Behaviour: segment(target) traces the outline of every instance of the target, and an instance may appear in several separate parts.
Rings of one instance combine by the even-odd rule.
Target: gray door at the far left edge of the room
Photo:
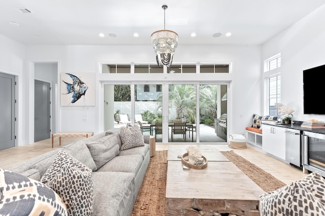
[[[0,150],[15,146],[15,76],[0,73]]]

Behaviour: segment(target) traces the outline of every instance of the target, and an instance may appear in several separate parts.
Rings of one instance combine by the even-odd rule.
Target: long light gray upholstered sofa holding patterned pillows
[[[92,215],[130,215],[150,161],[150,136],[144,146],[120,150],[120,131],[107,131],[31,158],[11,171],[40,181],[63,150],[92,169]]]

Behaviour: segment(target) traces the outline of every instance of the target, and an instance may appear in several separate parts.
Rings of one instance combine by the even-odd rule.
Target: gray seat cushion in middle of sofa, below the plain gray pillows
[[[139,154],[117,156],[97,171],[132,172],[137,176],[142,162],[143,158]]]

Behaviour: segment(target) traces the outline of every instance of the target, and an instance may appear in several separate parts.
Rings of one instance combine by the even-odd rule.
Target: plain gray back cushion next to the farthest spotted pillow
[[[97,170],[120,153],[120,146],[114,134],[86,143]]]

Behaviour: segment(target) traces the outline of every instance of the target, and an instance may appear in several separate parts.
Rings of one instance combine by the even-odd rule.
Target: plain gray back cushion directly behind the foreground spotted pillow
[[[67,148],[64,148],[63,151],[68,152],[71,156],[88,166],[91,170],[97,169],[96,164],[93,161],[89,149],[84,141],[76,141]]]

